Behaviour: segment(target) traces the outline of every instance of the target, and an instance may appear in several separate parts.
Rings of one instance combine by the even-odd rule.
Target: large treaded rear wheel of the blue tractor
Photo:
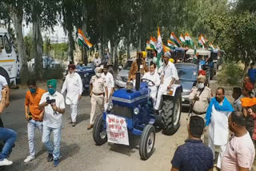
[[[169,99],[163,101],[161,116],[164,129],[162,130],[162,133],[166,135],[173,135],[178,130],[180,126],[179,120],[181,113],[181,97],[175,97],[173,101]]]

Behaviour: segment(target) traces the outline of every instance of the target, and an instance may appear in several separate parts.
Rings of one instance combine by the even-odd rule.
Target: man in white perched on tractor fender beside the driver
[[[162,68],[161,83],[158,89],[158,97],[154,109],[158,111],[159,105],[161,103],[162,94],[166,93],[167,89],[170,89],[174,81],[178,81],[178,72],[176,67],[172,62],[169,61],[171,58],[170,52],[166,52],[163,56],[164,66]]]

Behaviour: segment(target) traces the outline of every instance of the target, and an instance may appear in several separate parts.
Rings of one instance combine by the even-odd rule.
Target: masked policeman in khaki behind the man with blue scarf
[[[198,86],[193,87],[189,100],[192,102],[192,116],[198,115],[205,119],[206,110],[211,99],[211,90],[205,86],[206,76],[198,76]]]

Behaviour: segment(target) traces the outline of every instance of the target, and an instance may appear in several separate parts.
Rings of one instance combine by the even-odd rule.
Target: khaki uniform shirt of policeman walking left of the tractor
[[[94,75],[92,78],[90,78],[90,84],[93,85],[93,93],[104,93],[104,89],[106,87],[105,78],[97,78],[96,75]]]

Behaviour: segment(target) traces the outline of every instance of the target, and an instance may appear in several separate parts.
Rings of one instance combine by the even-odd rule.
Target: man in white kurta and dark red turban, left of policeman
[[[78,102],[82,98],[82,80],[79,74],[74,72],[74,64],[68,66],[69,74],[66,75],[62,85],[62,93],[66,92],[66,105],[70,105],[71,122],[75,126],[78,115]]]

